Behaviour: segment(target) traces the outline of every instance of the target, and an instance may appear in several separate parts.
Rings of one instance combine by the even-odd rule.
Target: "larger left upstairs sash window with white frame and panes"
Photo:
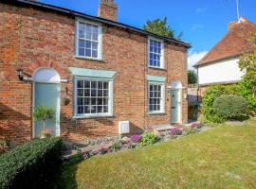
[[[101,26],[78,21],[76,36],[77,57],[101,59]]]

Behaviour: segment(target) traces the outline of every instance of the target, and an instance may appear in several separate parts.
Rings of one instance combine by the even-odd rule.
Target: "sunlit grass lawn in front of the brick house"
[[[256,188],[256,119],[64,166],[62,188]]]

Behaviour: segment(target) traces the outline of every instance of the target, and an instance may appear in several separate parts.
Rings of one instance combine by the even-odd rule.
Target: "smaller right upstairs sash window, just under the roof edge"
[[[148,49],[149,67],[163,68],[163,42],[150,38]]]

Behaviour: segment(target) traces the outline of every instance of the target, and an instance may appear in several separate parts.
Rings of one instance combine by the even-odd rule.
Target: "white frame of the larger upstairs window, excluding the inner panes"
[[[85,56],[81,56],[79,55],[79,24],[90,24],[93,26],[98,26],[99,28],[99,33],[98,33],[98,57],[94,58],[94,57],[87,57]],[[90,22],[90,21],[86,21],[83,20],[81,18],[76,18],[76,31],[75,31],[75,57],[76,58],[80,58],[80,59],[89,59],[89,60],[102,60],[102,26],[101,24],[98,23],[94,23],[94,22]]]

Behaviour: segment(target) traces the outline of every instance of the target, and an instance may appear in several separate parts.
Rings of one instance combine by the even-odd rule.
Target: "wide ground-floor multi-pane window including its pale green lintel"
[[[113,115],[113,77],[115,72],[69,68],[74,75],[74,116]]]

